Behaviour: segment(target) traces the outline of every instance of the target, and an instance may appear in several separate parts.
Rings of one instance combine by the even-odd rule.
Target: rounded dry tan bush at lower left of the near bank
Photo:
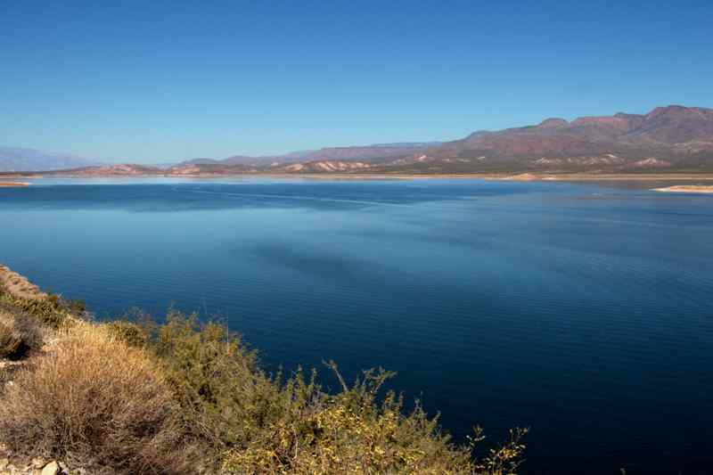
[[[16,374],[0,400],[0,437],[20,455],[92,473],[183,473],[191,451],[176,414],[149,356],[83,323]]]

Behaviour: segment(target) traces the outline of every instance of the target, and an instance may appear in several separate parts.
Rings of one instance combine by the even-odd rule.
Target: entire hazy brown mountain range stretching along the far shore
[[[6,149],[0,149],[6,150]],[[0,169],[12,168],[0,155]],[[37,160],[29,160],[37,168]],[[47,161],[40,163],[49,163]],[[56,160],[51,168],[64,168]],[[234,173],[488,173],[713,171],[713,109],[671,105],[647,114],[572,120],[475,132],[445,143],[332,147],[279,156],[186,160],[169,168],[104,166],[82,175],[225,175]]]

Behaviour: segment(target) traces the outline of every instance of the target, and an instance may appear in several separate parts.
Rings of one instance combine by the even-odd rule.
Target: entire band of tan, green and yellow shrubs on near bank
[[[393,376],[381,368],[348,384],[327,362],[340,381],[329,392],[316,370],[266,373],[238,335],[196,315],[93,323],[82,309],[0,290],[0,356],[25,362],[0,369],[13,456],[91,473],[305,475],[504,475],[522,460],[526,430],[455,445],[418,402],[381,394]]]

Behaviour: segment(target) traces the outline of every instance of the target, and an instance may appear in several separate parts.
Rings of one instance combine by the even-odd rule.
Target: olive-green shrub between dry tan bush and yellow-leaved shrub
[[[279,386],[261,372],[255,352],[218,323],[169,311],[154,327],[150,348],[165,368],[187,425],[220,453],[253,437],[269,423]]]

